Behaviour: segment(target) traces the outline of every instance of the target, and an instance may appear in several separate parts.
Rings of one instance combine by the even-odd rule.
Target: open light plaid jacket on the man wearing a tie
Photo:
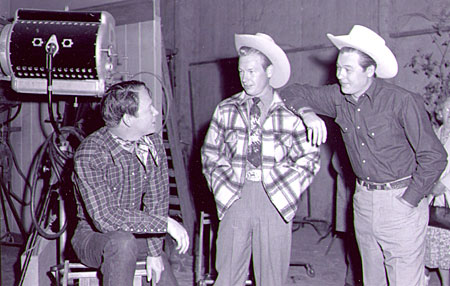
[[[219,219],[239,199],[245,182],[250,134],[245,92],[216,107],[202,146],[203,173],[214,194]],[[294,218],[300,195],[320,168],[319,148],[307,141],[303,122],[275,92],[262,127],[262,183],[286,221]]]

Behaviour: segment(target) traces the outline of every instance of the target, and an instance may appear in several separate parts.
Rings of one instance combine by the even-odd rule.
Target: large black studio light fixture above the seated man
[[[116,60],[114,27],[108,12],[19,9],[0,34],[0,79],[19,93],[102,96]]]

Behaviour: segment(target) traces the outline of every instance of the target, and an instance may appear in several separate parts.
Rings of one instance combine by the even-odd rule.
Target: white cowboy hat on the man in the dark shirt
[[[382,37],[361,25],[354,25],[348,35],[333,36],[328,39],[340,50],[350,47],[368,54],[377,63],[375,74],[379,78],[393,78],[398,72],[397,59],[386,46]]]

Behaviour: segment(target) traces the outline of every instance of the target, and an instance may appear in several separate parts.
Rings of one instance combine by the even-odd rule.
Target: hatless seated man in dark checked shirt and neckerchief
[[[158,285],[178,285],[162,255],[163,240],[169,233],[185,253],[189,237],[168,216],[167,160],[150,90],[139,81],[117,83],[101,105],[106,126],[74,157],[79,221],[73,249],[83,264],[101,270],[104,286],[132,285],[141,259],[148,280],[153,272]]]

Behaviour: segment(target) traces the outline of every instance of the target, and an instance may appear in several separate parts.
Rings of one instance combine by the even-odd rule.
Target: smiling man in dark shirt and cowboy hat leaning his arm
[[[423,99],[383,80],[398,70],[383,38],[360,25],[348,35],[327,36],[340,50],[339,85],[292,85],[280,95],[319,132],[319,143],[324,128],[310,110],[335,118],[341,129],[357,176],[354,224],[364,285],[422,286],[428,223],[423,198],[446,166],[445,150]]]

